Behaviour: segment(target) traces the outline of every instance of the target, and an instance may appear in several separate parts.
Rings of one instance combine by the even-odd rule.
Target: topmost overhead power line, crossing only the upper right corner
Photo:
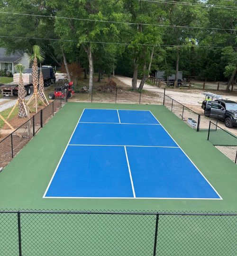
[[[199,7],[205,7],[205,8],[219,8],[219,9],[237,10],[236,7],[228,6],[228,5],[214,5],[214,4],[205,4],[205,3],[177,2],[177,1],[169,1],[169,0],[140,0],[140,1],[153,2],[153,3],[167,3],[167,4],[187,5],[187,6],[199,6]]]

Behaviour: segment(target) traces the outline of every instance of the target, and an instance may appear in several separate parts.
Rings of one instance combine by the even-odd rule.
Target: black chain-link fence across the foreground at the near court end
[[[0,211],[1,256],[236,256],[236,213]]]

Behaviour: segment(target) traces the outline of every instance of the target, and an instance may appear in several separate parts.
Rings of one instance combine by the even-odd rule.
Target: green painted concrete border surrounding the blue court
[[[151,110],[223,200],[42,198],[84,108]],[[73,161],[73,159],[72,159]],[[237,165],[162,105],[67,103],[0,173],[0,209],[237,211]]]

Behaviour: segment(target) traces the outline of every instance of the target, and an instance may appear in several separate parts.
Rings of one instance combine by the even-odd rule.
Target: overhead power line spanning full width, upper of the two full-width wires
[[[39,14],[27,14],[27,13],[18,13],[18,12],[7,12],[0,11],[3,14],[14,14],[14,15],[23,15],[23,16],[35,16],[35,17],[45,17],[45,18],[61,18],[61,19],[72,19],[72,20],[83,20],[83,21],[94,21],[94,22],[104,22],[104,23],[116,23],[116,24],[128,24],[128,25],[143,25],[143,26],[156,26],[156,27],[182,27],[182,28],[194,28],[194,29],[212,29],[212,30],[228,30],[236,31],[237,29],[232,28],[217,28],[217,27],[194,27],[194,26],[173,26],[173,25],[164,25],[164,24],[148,24],[148,23],[134,23],[134,22],[125,22],[125,21],[109,21],[109,20],[99,20],[99,19],[90,19],[90,18],[71,18],[71,17],[61,17],[61,16],[49,16],[49,15],[39,15]]]

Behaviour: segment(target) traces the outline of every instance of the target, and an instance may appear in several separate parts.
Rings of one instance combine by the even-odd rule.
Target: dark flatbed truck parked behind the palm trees
[[[55,73],[54,69],[51,66],[42,66],[41,68],[43,77],[44,77],[44,85],[50,86],[52,83],[55,83],[56,78],[55,78]],[[40,73],[40,68],[38,68],[38,76]],[[28,74],[28,75],[25,75]],[[27,77],[26,81],[24,81],[24,87],[26,89],[26,95],[30,95],[31,93],[31,86],[33,85],[32,83],[32,68],[27,68],[24,73],[23,77]],[[3,94],[3,96],[14,96],[18,94],[18,74],[14,74],[13,76],[13,82],[10,83],[0,83],[0,93]]]

